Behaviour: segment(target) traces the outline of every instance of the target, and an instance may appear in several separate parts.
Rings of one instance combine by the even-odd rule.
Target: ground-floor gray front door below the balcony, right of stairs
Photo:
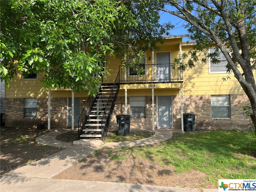
[[[171,127],[172,126],[172,101],[171,96],[158,96],[158,126]]]

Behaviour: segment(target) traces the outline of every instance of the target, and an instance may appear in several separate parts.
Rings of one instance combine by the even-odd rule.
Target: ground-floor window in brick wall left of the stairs
[[[24,99],[24,118],[37,118],[37,98]]]

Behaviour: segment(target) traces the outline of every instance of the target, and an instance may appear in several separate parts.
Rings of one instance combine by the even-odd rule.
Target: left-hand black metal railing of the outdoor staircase
[[[78,140],[80,140],[80,135],[82,134],[83,127],[89,117],[90,111],[92,110],[93,104],[96,97],[90,96],[86,101],[84,108],[78,119]]]

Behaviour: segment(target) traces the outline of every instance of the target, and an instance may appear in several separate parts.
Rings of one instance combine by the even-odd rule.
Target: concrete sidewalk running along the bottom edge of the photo
[[[67,179],[46,179],[4,175],[1,192],[217,192],[218,189],[196,189],[138,185],[128,183],[96,182]]]

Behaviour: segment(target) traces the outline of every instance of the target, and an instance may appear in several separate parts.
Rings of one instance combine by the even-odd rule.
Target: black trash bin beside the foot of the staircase
[[[116,115],[117,135],[129,136],[131,115]]]

